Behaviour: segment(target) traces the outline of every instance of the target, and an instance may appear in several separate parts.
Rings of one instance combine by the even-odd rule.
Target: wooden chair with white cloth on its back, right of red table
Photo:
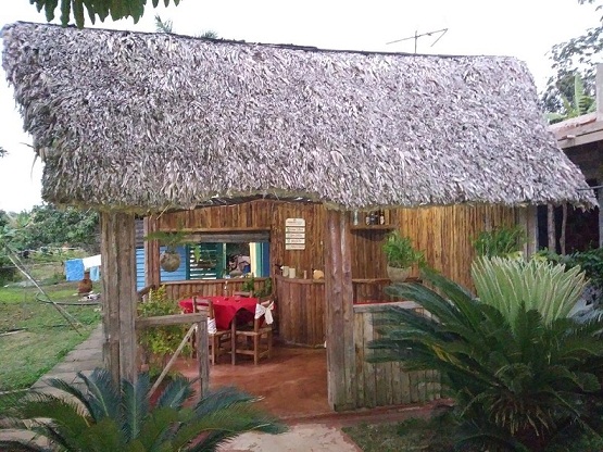
[[[273,350],[273,326],[272,310],[274,301],[260,300],[255,306],[253,324],[236,326],[235,340],[233,341],[235,355],[244,354],[253,356],[253,364],[257,365],[261,357],[272,356]],[[268,314],[269,313],[269,314]],[[265,342],[263,339],[265,338]]]

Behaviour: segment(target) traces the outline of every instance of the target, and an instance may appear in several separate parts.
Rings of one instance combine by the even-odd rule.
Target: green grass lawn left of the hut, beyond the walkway
[[[95,286],[98,290],[99,284]],[[74,296],[77,282],[45,286],[43,290],[56,302],[78,299]],[[0,391],[32,386],[100,322],[98,305],[62,306],[83,324],[78,334],[52,304],[36,301],[37,292],[36,287],[0,288]]]

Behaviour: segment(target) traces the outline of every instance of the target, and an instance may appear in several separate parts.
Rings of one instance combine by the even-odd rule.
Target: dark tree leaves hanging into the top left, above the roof
[[[153,8],[156,8],[160,0],[151,0],[151,2]],[[97,17],[104,22],[109,16],[113,21],[131,17],[134,23],[137,23],[147,7],[147,0],[29,0],[29,3],[35,4],[38,12],[43,10],[48,22],[54,20],[54,12],[60,8],[61,24],[67,26],[73,17],[79,28],[84,27],[85,12],[88,13],[92,24]],[[165,7],[169,3],[169,0],[163,0]],[[180,0],[173,0],[173,3],[177,7]]]

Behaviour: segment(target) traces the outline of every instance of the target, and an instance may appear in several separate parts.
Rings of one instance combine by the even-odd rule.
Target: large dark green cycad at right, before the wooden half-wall
[[[431,315],[391,307],[376,321],[382,337],[370,344],[372,361],[438,371],[455,402],[460,450],[542,451],[569,428],[594,426],[602,400],[600,319],[549,319],[523,300],[510,316],[501,306],[516,302],[508,291],[517,281],[494,294],[499,303],[485,303],[434,271],[424,268],[423,278],[434,290],[400,284],[387,292]]]

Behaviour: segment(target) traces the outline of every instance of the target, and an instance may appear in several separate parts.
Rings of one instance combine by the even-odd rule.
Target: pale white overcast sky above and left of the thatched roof
[[[417,52],[516,56],[527,63],[539,91],[552,74],[551,47],[595,26],[602,14],[577,0],[181,0],[167,9],[161,3],[153,10],[148,1],[138,24],[108,18],[96,26],[154,32],[159,13],[181,35],[213,30],[248,42],[411,53],[414,39],[388,42],[448,28],[437,42],[439,34],[419,37]],[[29,0],[4,0],[0,27],[16,21],[46,18]],[[595,62],[603,62],[601,55]],[[0,70],[0,147],[9,151],[0,159],[0,210],[21,212],[42,202],[43,164],[30,143]]]

